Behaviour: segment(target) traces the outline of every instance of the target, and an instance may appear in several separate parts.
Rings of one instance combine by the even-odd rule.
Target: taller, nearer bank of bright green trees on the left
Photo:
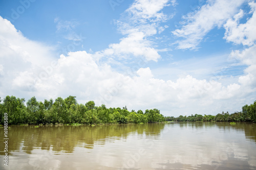
[[[50,125],[50,124],[126,124],[164,122],[164,116],[158,109],[131,112],[126,106],[106,108],[105,105],[95,106],[93,101],[85,105],[78,104],[75,96],[66,99],[57,98],[55,102],[45,100],[38,102],[32,97],[25,105],[25,99],[15,96],[0,98],[0,124],[4,125],[8,113],[8,125]]]

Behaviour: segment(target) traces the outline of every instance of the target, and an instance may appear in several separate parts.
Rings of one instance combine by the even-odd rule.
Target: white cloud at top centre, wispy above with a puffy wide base
[[[168,17],[161,10],[169,6],[168,0],[137,0],[127,9],[119,20],[118,30],[125,35],[119,43],[110,44],[102,53],[117,58],[143,57],[147,61],[158,61],[160,55],[149,37],[161,33],[167,27],[159,26]],[[173,1],[172,4],[175,4]]]

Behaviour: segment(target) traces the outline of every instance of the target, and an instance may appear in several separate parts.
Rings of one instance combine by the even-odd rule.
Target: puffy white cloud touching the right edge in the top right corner
[[[239,20],[244,16],[244,11],[234,15],[233,18],[227,20],[224,25],[226,29],[225,39],[228,42],[234,42],[236,44],[253,45],[256,40],[256,3],[250,2],[250,13],[252,16],[246,21],[246,23],[239,23]]]

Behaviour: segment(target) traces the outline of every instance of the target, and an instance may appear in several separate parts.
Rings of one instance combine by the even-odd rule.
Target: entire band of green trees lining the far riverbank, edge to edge
[[[39,125],[39,124],[126,124],[147,122],[256,122],[256,101],[251,105],[242,107],[241,112],[218,113],[217,115],[191,114],[190,116],[164,117],[158,109],[128,111],[122,109],[106,108],[105,105],[95,106],[94,101],[86,104],[78,104],[76,96],[68,96],[66,99],[57,98],[37,101],[35,96],[27,101],[15,96],[7,95],[3,100],[0,98],[0,124],[4,124],[4,113],[8,113],[9,125]]]

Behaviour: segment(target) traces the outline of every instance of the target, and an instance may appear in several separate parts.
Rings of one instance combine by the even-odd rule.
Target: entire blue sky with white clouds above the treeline
[[[241,111],[256,101],[251,0],[0,0],[0,96]]]

